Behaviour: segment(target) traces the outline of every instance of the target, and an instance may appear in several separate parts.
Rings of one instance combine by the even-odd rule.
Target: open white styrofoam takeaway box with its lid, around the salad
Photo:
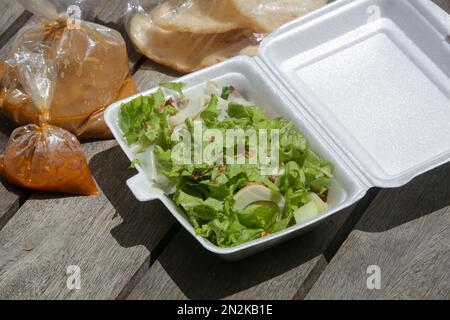
[[[256,58],[237,57],[177,80],[188,94],[209,80],[233,85],[269,114],[293,121],[312,149],[335,165],[330,209],[310,222],[219,248],[195,234],[150,172],[138,167],[127,184],[139,201],[161,200],[201,245],[227,260],[298,236],[371,187],[404,185],[450,160],[448,35],[449,15],[430,0],[340,0],[275,31]],[[135,97],[105,113],[130,160],[119,112]]]

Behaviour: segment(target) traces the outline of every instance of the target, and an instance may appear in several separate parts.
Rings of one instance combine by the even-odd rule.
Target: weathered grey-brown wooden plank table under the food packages
[[[435,0],[450,12],[450,0]],[[123,31],[125,1],[98,0],[97,22]],[[102,6],[101,2],[105,2]],[[107,5],[106,5],[107,2]],[[0,59],[32,15],[0,2]],[[177,76],[130,46],[144,90]],[[0,149],[10,129],[0,125]],[[371,190],[318,229],[247,260],[210,255],[158,202],[138,203],[114,141],[84,144],[98,197],[0,183],[0,299],[450,298],[450,164],[395,190]],[[67,268],[79,266],[81,290]],[[369,266],[381,289],[369,290]]]

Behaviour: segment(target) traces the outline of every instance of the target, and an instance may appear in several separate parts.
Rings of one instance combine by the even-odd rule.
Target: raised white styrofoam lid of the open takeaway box
[[[395,187],[450,159],[450,18],[430,0],[338,1],[259,60],[365,178]]]

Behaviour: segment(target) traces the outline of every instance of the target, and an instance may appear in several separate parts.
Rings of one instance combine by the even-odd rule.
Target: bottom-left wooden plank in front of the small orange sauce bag
[[[114,299],[172,225],[160,203],[138,203],[113,141],[84,146],[98,197],[34,194],[0,233],[0,299]],[[82,289],[66,288],[81,268]],[[147,266],[148,268],[148,266]]]

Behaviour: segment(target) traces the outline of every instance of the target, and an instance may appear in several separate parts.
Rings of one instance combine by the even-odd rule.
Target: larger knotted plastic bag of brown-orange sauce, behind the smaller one
[[[19,2],[39,18],[19,33],[5,61],[2,113],[19,125],[45,122],[82,139],[111,137],[104,109],[136,91],[120,33],[59,14],[47,1]]]

